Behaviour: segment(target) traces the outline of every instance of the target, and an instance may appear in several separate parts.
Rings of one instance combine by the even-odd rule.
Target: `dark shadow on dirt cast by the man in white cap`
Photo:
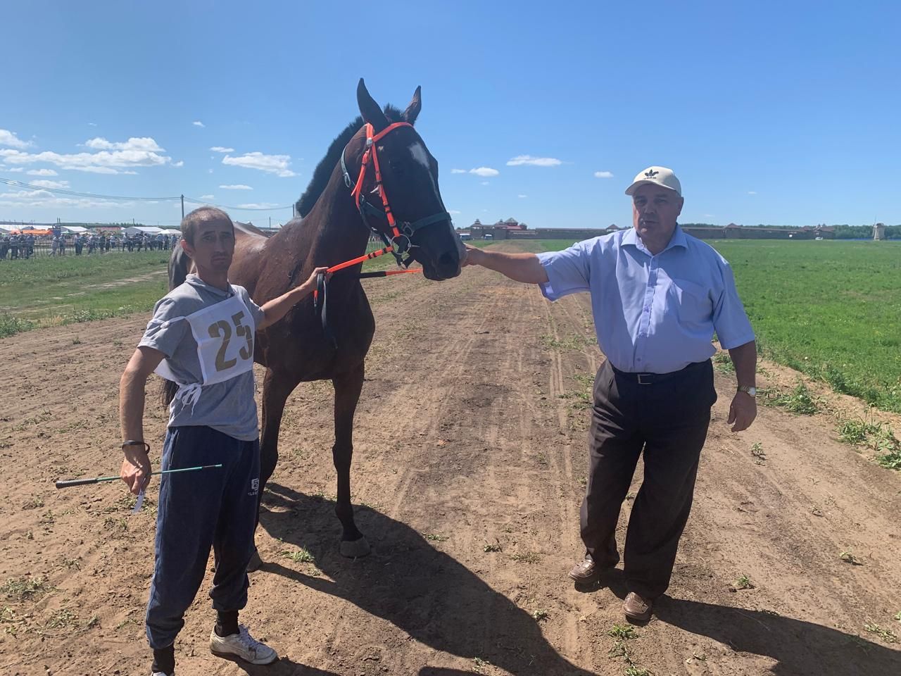
[[[654,614],[735,651],[771,657],[778,662],[771,669],[776,676],[901,674],[901,651],[792,617],[669,597],[660,599]]]

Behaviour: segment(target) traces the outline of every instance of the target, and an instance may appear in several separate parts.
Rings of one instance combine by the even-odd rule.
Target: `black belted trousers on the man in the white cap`
[[[623,567],[630,591],[657,598],[669,587],[691,511],[716,401],[713,366],[708,360],[639,377],[605,362],[597,371],[594,395],[582,541],[599,565],[619,562],[616,522],[643,451],[644,480],[629,518]]]

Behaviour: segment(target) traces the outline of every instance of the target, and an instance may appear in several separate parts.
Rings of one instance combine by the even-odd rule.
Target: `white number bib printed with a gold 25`
[[[198,310],[193,315],[176,317],[170,322],[184,319],[191,326],[197,342],[197,359],[203,380],[200,383],[179,382],[167,360],[159,362],[156,372],[165,379],[181,386],[177,396],[191,396],[196,402],[201,385],[213,385],[231,380],[253,368],[253,335],[256,324],[253,315],[237,293],[215,305]]]

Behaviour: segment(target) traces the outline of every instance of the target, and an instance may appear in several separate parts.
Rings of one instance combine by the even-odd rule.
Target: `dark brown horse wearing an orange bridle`
[[[303,218],[292,220],[269,238],[252,232],[251,228],[236,227],[229,279],[247,288],[259,305],[307,279],[316,267],[332,266],[363,254],[370,228],[386,233],[389,239],[392,237],[384,214],[375,213],[371,207],[359,209],[348,187],[356,182],[366,151],[366,133],[361,128],[364,122],[371,124],[377,134],[391,123],[409,123],[392,129],[376,142],[382,189],[399,225],[426,224],[409,237],[412,244],[409,253],[422,264],[425,277],[441,280],[460,274],[464,249],[441,201],[438,163],[412,126],[422,107],[420,89],[416,88],[404,113],[390,106],[382,111],[360,79],[357,102],[361,118],[332,142],[332,148],[298,203]],[[348,177],[341,167],[341,159]],[[318,199],[317,182],[324,183]],[[372,193],[376,189],[374,172],[370,169],[359,193],[366,196],[370,205],[381,207],[378,192],[373,201]],[[307,209],[309,213],[305,213]],[[169,262],[170,288],[184,281],[189,265],[190,259],[181,247],[176,247]],[[332,459],[338,473],[335,513],[343,530],[341,553],[350,557],[369,553],[369,543],[357,529],[350,506],[353,416],[363,387],[364,361],[376,326],[369,300],[357,279],[360,268],[361,264],[337,272],[329,282],[328,324],[332,335],[328,339],[312,299],[307,299],[278,324],[257,333],[254,352],[254,360],[266,367],[260,498],[278,461],[278,428],[288,395],[301,382],[332,380],[335,390]]]

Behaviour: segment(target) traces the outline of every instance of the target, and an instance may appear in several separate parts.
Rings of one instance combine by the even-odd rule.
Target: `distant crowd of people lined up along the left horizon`
[[[65,256],[66,251],[105,253],[108,251],[169,251],[177,242],[170,234],[107,235],[82,233],[35,237],[33,234],[7,234],[0,239],[0,260],[29,259],[34,255],[36,242],[49,242],[51,256]],[[85,251],[86,250],[86,251]]]

